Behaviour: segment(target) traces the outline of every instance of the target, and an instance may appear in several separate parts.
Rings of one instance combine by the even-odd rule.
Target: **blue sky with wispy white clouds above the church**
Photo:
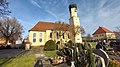
[[[12,17],[24,26],[23,36],[37,22],[63,21],[69,23],[69,4],[78,7],[80,24],[86,34],[92,34],[99,26],[111,31],[120,26],[120,0],[8,0]]]

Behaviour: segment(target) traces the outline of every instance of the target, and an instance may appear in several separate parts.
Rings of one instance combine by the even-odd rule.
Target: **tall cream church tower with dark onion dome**
[[[79,17],[78,17],[78,14],[77,14],[77,5],[76,4],[70,4],[69,5],[69,12],[70,12],[69,22],[70,22],[70,24],[74,25],[74,28],[76,30],[77,26],[80,27],[80,21],[79,21]],[[81,33],[76,34],[75,43],[82,43]]]

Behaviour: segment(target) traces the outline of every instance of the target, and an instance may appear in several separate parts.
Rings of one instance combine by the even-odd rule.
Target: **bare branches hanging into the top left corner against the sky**
[[[11,11],[9,10],[9,3],[7,0],[0,0],[0,17],[4,15],[9,15]]]

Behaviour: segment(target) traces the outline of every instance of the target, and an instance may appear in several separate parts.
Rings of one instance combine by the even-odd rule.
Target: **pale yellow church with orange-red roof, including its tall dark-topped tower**
[[[69,5],[69,11],[70,11],[70,19],[69,23],[73,24],[75,27],[80,26],[79,17],[77,16],[77,5],[76,4],[70,4]],[[53,40],[56,43],[60,41],[60,37],[57,30],[57,32],[54,32],[54,22],[38,22],[32,29],[29,30],[29,41],[32,43],[31,46],[42,46],[44,45],[48,40]],[[63,30],[64,31],[64,30]],[[70,32],[67,31],[66,33],[62,34],[62,43],[66,43],[70,40]],[[73,39],[71,39],[73,41]],[[75,36],[75,42],[81,43],[81,33],[78,33]]]

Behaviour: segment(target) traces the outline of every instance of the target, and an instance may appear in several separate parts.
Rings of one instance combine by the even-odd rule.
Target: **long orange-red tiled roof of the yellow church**
[[[59,25],[59,23],[55,24],[53,22],[43,22],[43,21],[40,21],[32,29],[30,29],[29,31],[53,30],[55,27],[61,27],[61,25]],[[67,27],[67,24],[64,27]]]

